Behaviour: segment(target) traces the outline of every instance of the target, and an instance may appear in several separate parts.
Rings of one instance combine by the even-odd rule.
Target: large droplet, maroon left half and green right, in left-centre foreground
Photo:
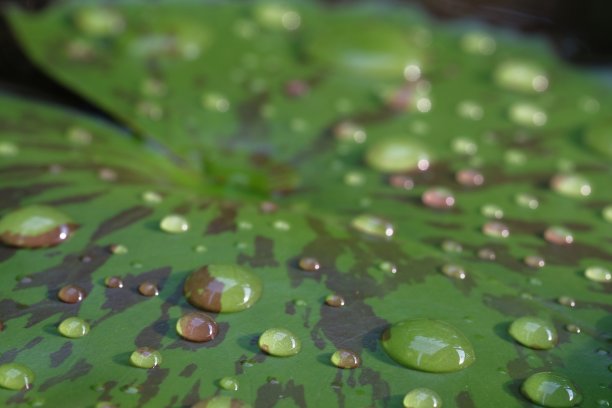
[[[209,312],[239,312],[261,297],[257,275],[239,265],[208,265],[185,280],[185,297],[193,306]]]

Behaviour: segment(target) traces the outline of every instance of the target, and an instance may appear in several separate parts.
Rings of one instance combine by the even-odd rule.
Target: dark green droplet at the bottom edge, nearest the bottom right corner
[[[551,372],[531,375],[521,386],[521,392],[531,402],[543,407],[573,407],[582,401],[571,380]]]

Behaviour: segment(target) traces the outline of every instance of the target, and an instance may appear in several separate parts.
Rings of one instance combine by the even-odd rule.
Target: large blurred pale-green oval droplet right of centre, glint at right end
[[[427,170],[430,154],[415,140],[394,138],[370,145],[365,160],[375,170],[399,173],[415,169]]]

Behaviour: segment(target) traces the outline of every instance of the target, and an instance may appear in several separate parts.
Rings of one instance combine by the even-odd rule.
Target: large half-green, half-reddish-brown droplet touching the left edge
[[[21,248],[44,248],[67,240],[77,225],[64,213],[47,206],[20,208],[0,219],[0,241]]]

